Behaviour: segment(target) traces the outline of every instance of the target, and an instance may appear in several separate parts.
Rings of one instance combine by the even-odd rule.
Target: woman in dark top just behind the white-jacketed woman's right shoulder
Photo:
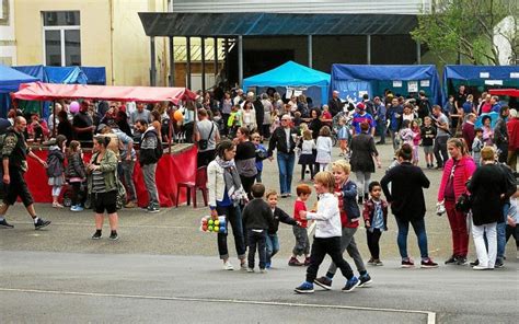
[[[237,155],[234,161],[237,163],[237,170],[240,174],[243,188],[247,195],[251,194],[251,187],[256,178],[256,147],[251,141],[251,132],[246,127],[240,127],[237,131],[237,138],[234,139],[237,144]]]

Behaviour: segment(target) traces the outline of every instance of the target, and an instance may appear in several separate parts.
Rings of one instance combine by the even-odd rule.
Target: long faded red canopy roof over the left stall
[[[11,94],[11,96],[13,99],[36,101],[89,99],[147,103],[166,101],[177,104],[180,100],[195,100],[196,93],[186,88],[54,84],[32,82],[20,84],[20,90]]]

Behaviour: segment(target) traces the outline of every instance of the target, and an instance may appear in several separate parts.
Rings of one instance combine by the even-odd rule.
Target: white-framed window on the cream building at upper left
[[[46,66],[81,65],[79,11],[45,11],[43,14]]]

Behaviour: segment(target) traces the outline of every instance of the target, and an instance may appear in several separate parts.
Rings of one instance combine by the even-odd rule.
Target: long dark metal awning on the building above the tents
[[[139,12],[139,16],[147,36],[403,35],[417,26],[411,14]]]

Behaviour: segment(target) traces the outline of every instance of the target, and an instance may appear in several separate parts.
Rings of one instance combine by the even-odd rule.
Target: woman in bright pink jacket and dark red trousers
[[[446,265],[464,265],[469,252],[469,233],[465,215],[455,210],[455,201],[461,194],[466,192],[465,183],[474,173],[476,165],[462,140],[449,139],[447,150],[451,158],[443,165],[443,175],[438,190],[438,202],[445,204],[452,232],[452,256],[446,261]]]

